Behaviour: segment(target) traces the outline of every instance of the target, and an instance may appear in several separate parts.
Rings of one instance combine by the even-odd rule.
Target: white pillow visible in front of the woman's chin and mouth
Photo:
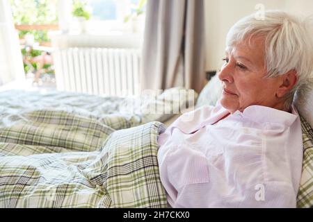
[[[221,96],[222,82],[216,74],[209,80],[209,83],[207,83],[207,85],[205,85],[200,92],[195,108],[199,108],[202,105],[216,105],[216,102]]]

